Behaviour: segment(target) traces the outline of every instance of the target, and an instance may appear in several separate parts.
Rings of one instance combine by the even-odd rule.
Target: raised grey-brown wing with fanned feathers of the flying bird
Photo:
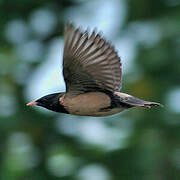
[[[120,91],[121,62],[117,52],[95,31],[65,27],[63,75],[66,91]]]

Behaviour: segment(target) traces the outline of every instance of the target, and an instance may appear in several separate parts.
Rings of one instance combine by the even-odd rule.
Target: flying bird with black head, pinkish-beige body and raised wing
[[[27,106],[80,116],[107,116],[132,107],[161,106],[120,92],[121,59],[99,33],[64,30],[63,76],[66,92],[49,94]]]

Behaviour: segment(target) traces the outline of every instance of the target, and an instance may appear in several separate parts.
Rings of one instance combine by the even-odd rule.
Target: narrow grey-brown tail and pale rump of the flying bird
[[[162,104],[156,103],[156,102],[150,102],[150,101],[144,101],[142,99],[133,97],[131,95],[125,94],[125,93],[116,93],[120,97],[120,101],[130,105],[132,107],[145,107],[145,108],[151,108],[152,106],[161,106],[163,107]]]

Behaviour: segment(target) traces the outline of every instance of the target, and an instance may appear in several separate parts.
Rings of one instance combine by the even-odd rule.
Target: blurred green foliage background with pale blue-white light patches
[[[65,89],[66,22],[102,30],[122,92],[165,107],[106,118],[26,107]],[[180,1],[0,0],[0,179],[179,180]]]

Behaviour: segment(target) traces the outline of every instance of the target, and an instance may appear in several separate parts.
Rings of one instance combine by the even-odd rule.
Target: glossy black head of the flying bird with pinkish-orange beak
[[[27,106],[37,105],[51,111],[68,113],[64,106],[59,103],[59,98],[62,95],[64,95],[64,93],[49,94],[37,99],[36,101],[28,103]]]

